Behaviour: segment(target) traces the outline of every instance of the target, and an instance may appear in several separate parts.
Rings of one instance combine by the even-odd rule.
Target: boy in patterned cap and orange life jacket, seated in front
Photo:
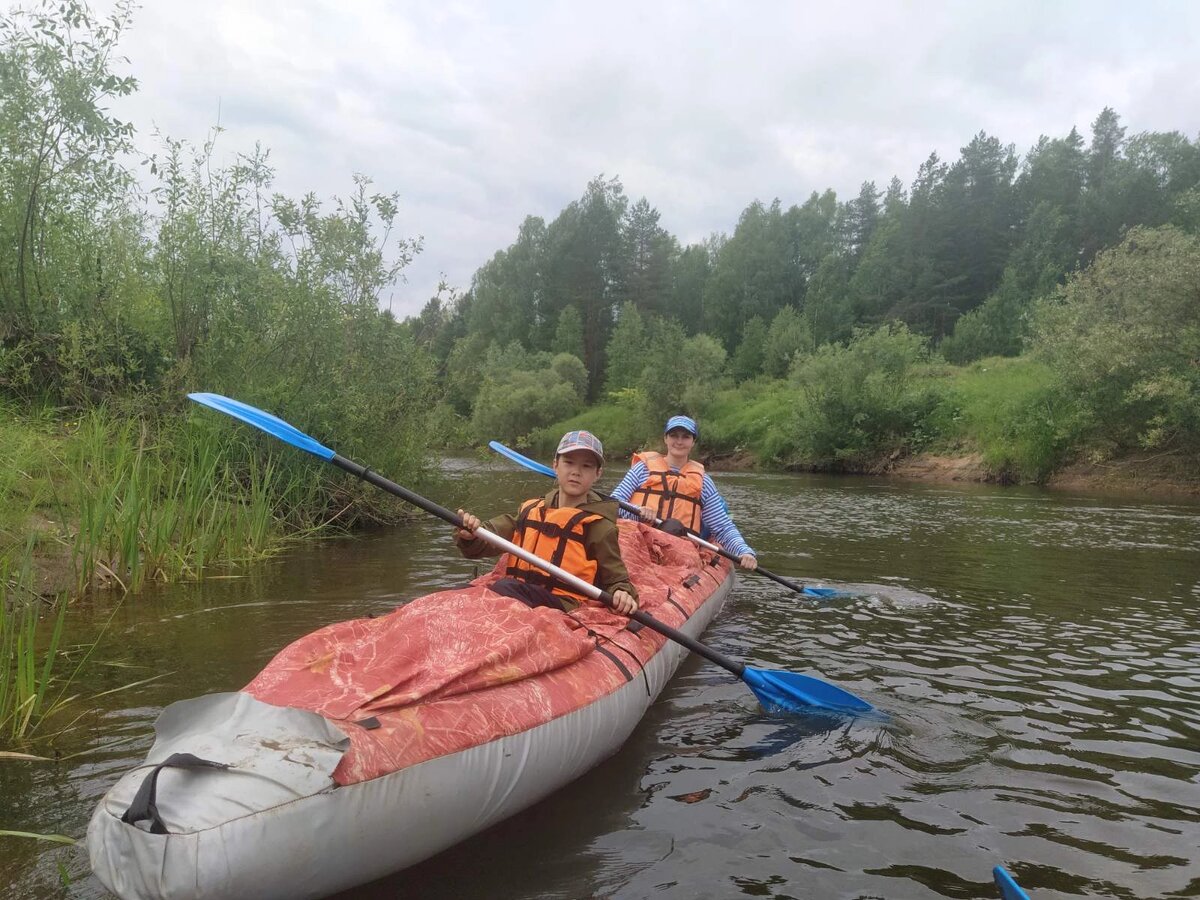
[[[521,504],[516,516],[497,516],[480,522],[458,510],[464,528],[455,530],[455,542],[468,559],[494,554],[496,547],[475,536],[480,527],[494,532],[523,550],[554,563],[583,581],[612,594],[613,608],[629,616],[637,610],[637,588],[620,558],[617,541],[617,504],[601,500],[592,486],[604,470],[604,445],[592,432],[569,431],[554,452],[558,487],[545,497]],[[523,559],[510,558],[504,577],[491,590],[529,606],[570,611],[590,598],[578,594]]]

